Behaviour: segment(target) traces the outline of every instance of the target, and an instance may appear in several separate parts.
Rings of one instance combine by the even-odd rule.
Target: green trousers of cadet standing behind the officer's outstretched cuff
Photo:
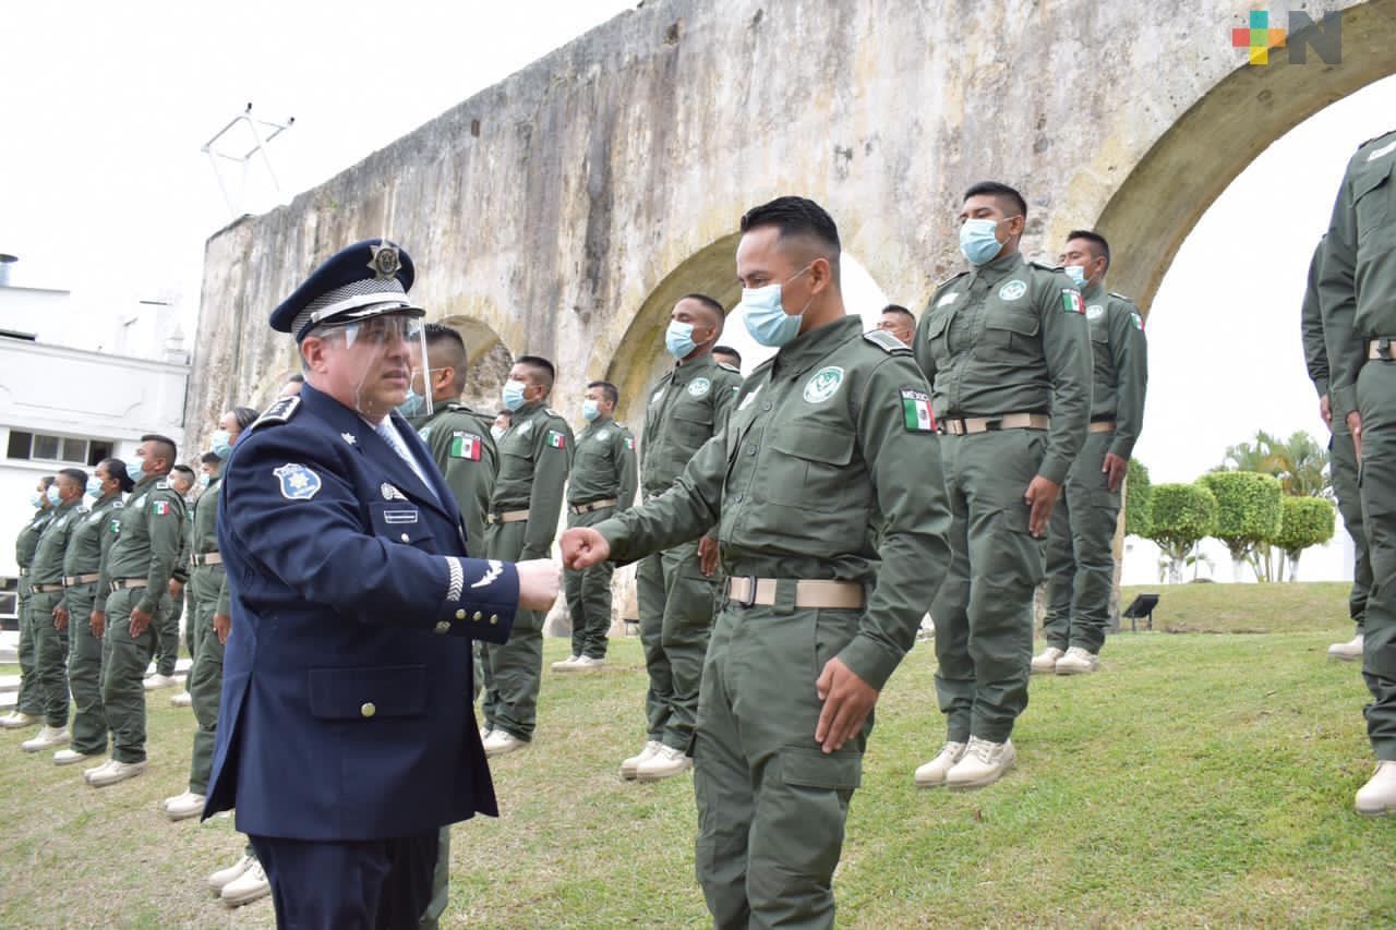
[[[521,561],[546,559],[547,553],[525,553],[528,521],[494,524],[484,531],[490,559]],[[484,726],[529,741],[537,725],[537,690],[543,683],[542,610],[519,610],[504,644],[484,642]]]

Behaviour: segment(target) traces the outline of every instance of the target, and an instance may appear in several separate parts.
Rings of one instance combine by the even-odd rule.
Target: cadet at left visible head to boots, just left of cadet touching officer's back
[[[184,536],[184,499],[166,475],[174,443],[142,436],[126,471],[135,480],[131,499],[116,517],[117,539],[102,560],[94,609],[94,633],[102,642],[102,704],[112,729],[112,758],[84,772],[105,788],[145,771],[145,690],[141,681],[155,649],[155,624],[169,609],[168,591]]]

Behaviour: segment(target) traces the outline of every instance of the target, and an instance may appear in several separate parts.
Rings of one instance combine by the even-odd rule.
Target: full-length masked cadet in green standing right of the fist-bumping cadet
[[[1090,335],[1071,278],[1019,251],[1022,194],[974,184],[959,219],[973,268],[935,289],[914,344],[955,515],[955,561],[931,605],[948,732],[916,783],[963,789],[998,781],[1015,760],[1041,538],[1090,419]]]

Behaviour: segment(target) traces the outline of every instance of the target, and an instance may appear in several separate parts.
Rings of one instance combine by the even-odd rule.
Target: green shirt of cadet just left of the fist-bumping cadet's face
[[[646,497],[662,494],[688,459],[722,429],[741,373],[712,353],[676,364],[649,392],[641,434],[639,486]]]

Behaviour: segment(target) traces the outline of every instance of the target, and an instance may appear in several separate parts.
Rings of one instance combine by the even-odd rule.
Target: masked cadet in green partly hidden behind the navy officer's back
[[[214,767],[214,737],[218,733],[218,708],[223,688],[223,644],[229,627],[218,628],[215,617],[225,619],[232,610],[232,592],[223,571],[223,556],[218,552],[218,504],[223,485],[223,464],[233,454],[237,437],[257,420],[257,411],[237,406],[223,413],[209,445],[218,455],[218,471],[209,478],[204,493],[190,510],[190,532],[184,536],[184,564],[190,589],[190,612],[186,623],[190,641],[197,652],[188,669],[190,707],[198,729],[188,767],[188,789],[165,799],[165,815],[170,820],[197,817],[204,811],[208,778]]]

